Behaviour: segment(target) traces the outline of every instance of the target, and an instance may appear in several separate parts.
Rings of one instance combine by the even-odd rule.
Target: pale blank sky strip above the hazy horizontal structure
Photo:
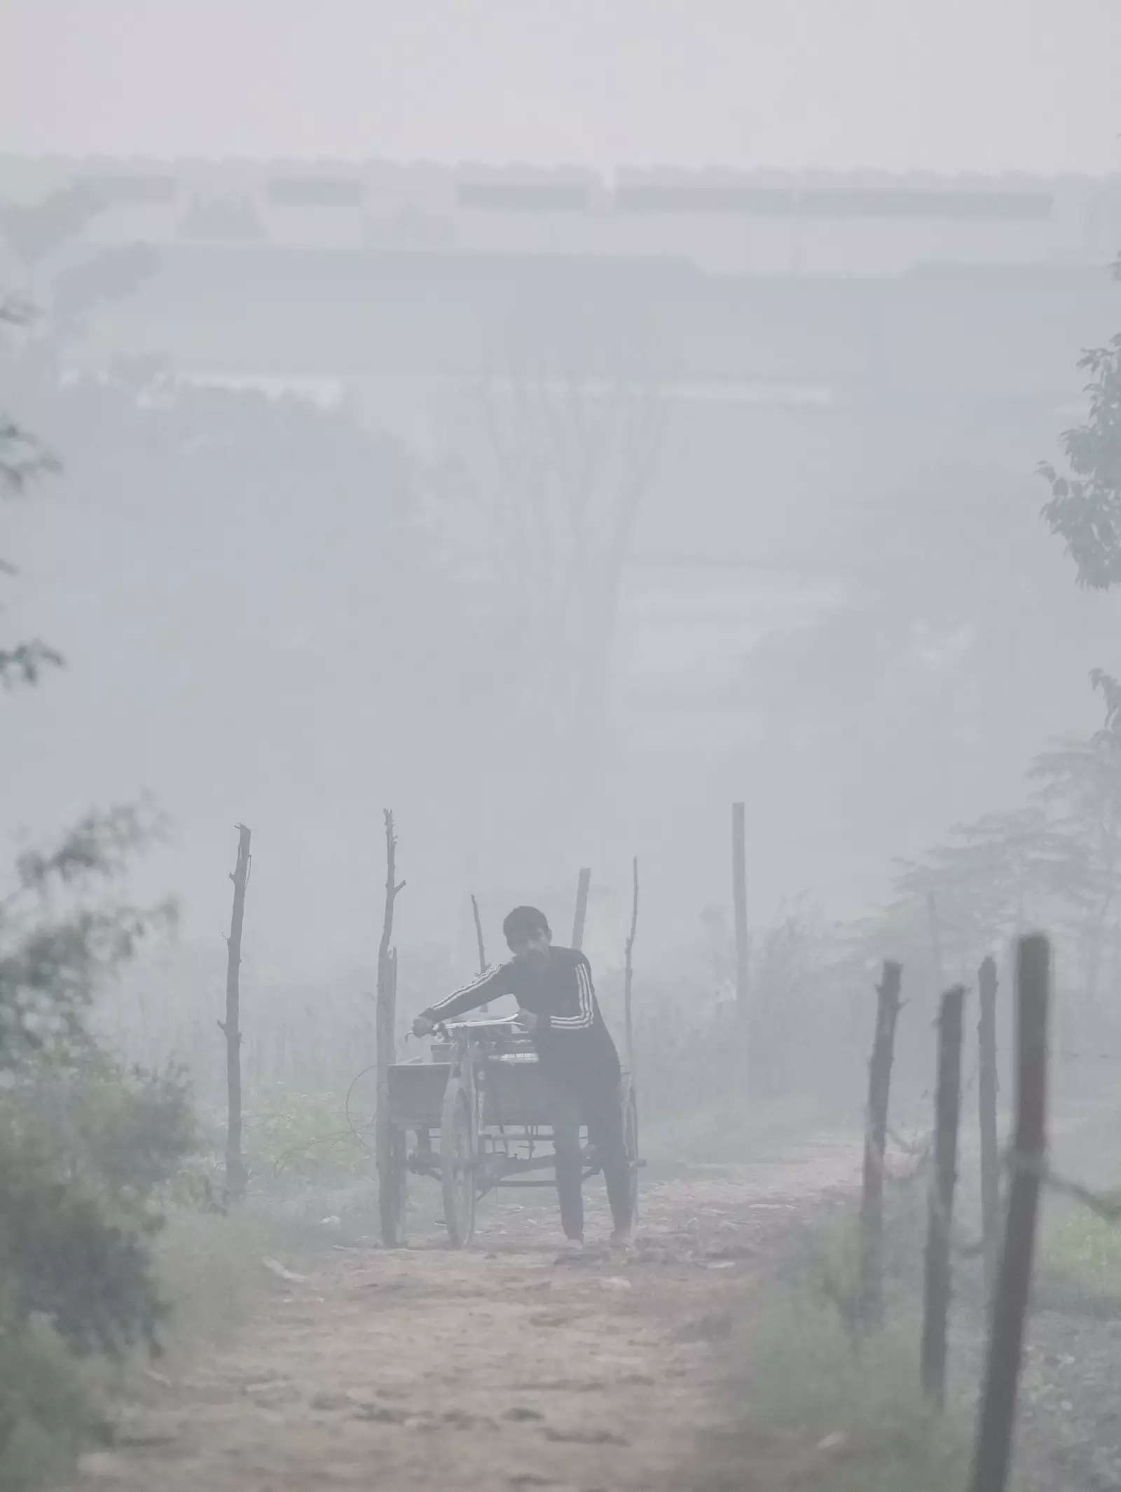
[[[1121,170],[1121,0],[0,0],[0,149]]]

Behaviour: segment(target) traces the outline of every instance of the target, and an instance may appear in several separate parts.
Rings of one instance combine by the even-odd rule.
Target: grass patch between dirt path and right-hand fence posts
[[[951,1492],[967,1480],[972,1405],[937,1413],[919,1389],[919,1307],[903,1268],[921,1192],[887,1198],[888,1325],[858,1329],[855,1207],[822,1213],[791,1240],[766,1292],[733,1313],[721,1346],[731,1428],[705,1437],[691,1492]],[[921,1246],[921,1240],[919,1240]],[[961,1388],[961,1385],[958,1385]]]

